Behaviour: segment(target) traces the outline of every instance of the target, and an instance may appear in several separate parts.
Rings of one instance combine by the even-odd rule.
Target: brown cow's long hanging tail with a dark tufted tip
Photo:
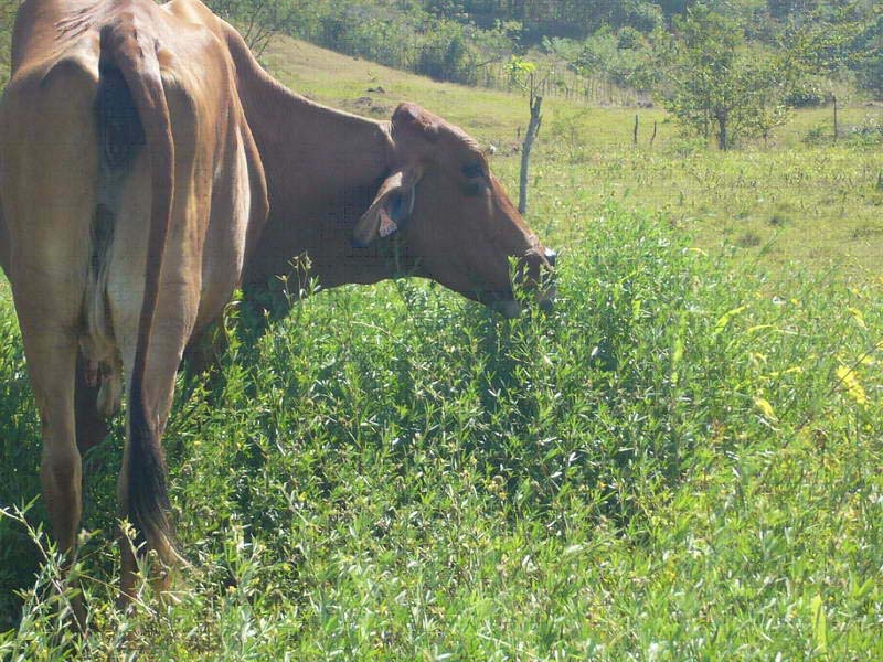
[[[102,75],[119,72],[131,94],[143,128],[150,159],[150,226],[148,229],[145,295],[138,322],[135,362],[129,387],[129,446],[124,467],[125,514],[139,542],[147,541],[161,555],[173,554],[173,530],[166,484],[166,461],[160,444],[156,397],[145,393],[145,373],[153,314],[159,295],[162,255],[171,223],[174,188],[174,143],[171,118],[162,88],[157,43],[135,25],[115,22],[100,33]]]

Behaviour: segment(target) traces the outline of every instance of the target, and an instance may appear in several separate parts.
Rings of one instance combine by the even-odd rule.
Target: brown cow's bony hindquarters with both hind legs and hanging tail
[[[183,350],[222,311],[265,221],[260,157],[230,54],[205,28],[136,1],[40,30],[56,31],[61,60],[29,51],[0,105],[0,266],[43,421],[45,494],[70,549],[76,430],[102,435],[125,388],[120,514],[171,562],[160,438]],[[125,596],[136,567],[123,552]]]

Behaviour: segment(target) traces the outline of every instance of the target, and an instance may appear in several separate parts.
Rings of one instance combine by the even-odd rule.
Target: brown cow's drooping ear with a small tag
[[[406,166],[387,177],[355,224],[353,244],[364,248],[402,228],[414,211],[414,189],[422,175],[419,166]]]

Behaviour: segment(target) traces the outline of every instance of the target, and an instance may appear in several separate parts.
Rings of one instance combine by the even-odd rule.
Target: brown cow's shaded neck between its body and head
[[[270,207],[246,282],[291,276],[291,259],[305,253],[322,287],[390,277],[389,259],[352,247],[352,228],[390,168],[389,124],[315,104],[263,70],[242,78]]]

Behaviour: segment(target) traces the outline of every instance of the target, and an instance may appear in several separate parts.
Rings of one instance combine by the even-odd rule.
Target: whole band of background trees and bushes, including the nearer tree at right
[[[20,1],[0,0],[0,85]],[[600,87],[609,98],[614,88],[652,95],[723,149],[766,140],[790,108],[830,103],[839,90],[883,98],[879,0],[208,3],[258,56],[281,32],[437,79],[492,86],[513,58],[529,58],[542,71],[544,94],[597,100],[591,93]]]

